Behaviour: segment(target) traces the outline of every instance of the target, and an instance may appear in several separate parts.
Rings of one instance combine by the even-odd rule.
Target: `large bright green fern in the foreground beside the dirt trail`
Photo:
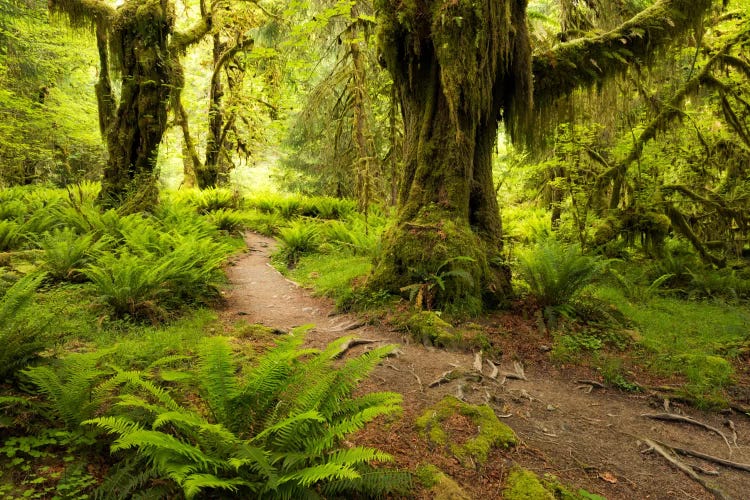
[[[300,349],[302,341],[299,334],[283,340],[238,380],[227,340],[207,339],[198,380],[210,417],[155,385],[139,384],[116,403],[125,415],[85,423],[115,434],[112,452],[134,453],[129,463],[150,469],[144,477],[176,484],[187,498],[221,491],[244,498],[382,495],[407,484],[404,474],[370,466],[390,460],[387,454],[339,448],[367,422],[399,411],[398,394],[351,397],[392,347],[334,368],[346,338],[323,352]]]

